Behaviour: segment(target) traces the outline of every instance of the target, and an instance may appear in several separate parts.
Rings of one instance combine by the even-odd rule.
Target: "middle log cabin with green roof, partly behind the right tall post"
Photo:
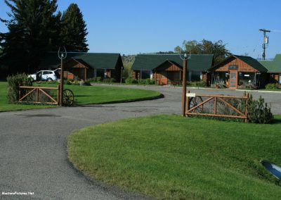
[[[188,60],[188,81],[207,82],[207,70],[211,68],[213,55],[191,55]],[[155,80],[157,85],[181,85],[183,61],[176,54],[138,54],[132,66],[133,79]]]

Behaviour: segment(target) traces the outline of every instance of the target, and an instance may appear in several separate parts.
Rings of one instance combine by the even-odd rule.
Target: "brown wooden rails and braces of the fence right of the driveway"
[[[190,92],[187,91],[187,94]],[[186,110],[185,110],[185,116],[188,115],[202,115],[202,116],[214,116],[214,117],[222,117],[222,118],[238,118],[238,119],[244,119],[245,123],[248,121],[248,99],[249,99],[249,94],[246,96],[225,96],[225,95],[213,95],[213,94],[196,94],[195,97],[191,98],[198,98],[202,99],[202,97],[207,97],[208,99],[199,102],[199,104],[196,104],[195,106],[192,106],[190,108],[190,97],[187,98],[186,101]],[[231,105],[228,101],[225,99],[244,99],[244,112],[239,111],[235,106]],[[202,111],[204,104],[207,102],[214,100],[214,113],[202,113],[202,112],[196,112],[196,111]],[[217,104],[218,101],[221,101],[223,104],[226,106],[230,107],[233,111],[235,111],[236,115],[226,115],[226,114],[218,114],[217,113]],[[201,109],[198,109],[201,108]]]

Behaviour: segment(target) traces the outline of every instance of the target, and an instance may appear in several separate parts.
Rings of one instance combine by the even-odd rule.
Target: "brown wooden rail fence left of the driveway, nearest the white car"
[[[21,89],[31,89],[30,92],[27,92],[24,96],[21,96]],[[55,100],[50,94],[48,94],[44,89],[56,89],[57,90],[57,99]],[[37,92],[36,94],[36,101],[28,101],[32,104],[53,104],[53,105],[59,105],[59,99],[60,99],[60,86],[58,87],[33,87],[33,86],[20,86],[18,90],[18,102],[22,102],[23,99],[26,99],[27,96],[30,96],[33,92]],[[48,97],[48,99],[51,99],[51,102],[41,102],[39,101],[39,92],[44,94]]]

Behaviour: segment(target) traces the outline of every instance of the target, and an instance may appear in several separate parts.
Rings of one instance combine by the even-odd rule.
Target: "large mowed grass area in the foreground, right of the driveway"
[[[74,131],[67,147],[94,180],[158,199],[281,199],[259,163],[281,165],[280,130],[280,116],[258,125],[155,115]]]

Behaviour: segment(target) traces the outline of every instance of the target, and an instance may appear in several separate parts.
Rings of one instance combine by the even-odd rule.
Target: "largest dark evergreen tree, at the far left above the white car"
[[[35,70],[46,51],[58,49],[60,13],[56,0],[5,0],[10,19],[1,19],[8,32],[0,33],[0,62],[10,73]]]

